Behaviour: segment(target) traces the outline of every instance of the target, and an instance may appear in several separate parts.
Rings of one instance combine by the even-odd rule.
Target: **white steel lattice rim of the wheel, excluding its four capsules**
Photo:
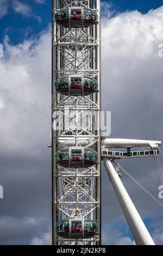
[[[98,24],[89,28],[64,28],[55,22],[55,13],[68,5],[96,9]],[[56,92],[54,82],[64,75],[90,75],[98,81],[98,92],[89,96],[64,96]],[[52,227],[54,245],[101,243],[101,45],[99,0],[53,0],[52,22]],[[98,163],[90,168],[63,168],[54,155],[74,146],[95,149]],[[63,239],[57,236],[55,223],[78,215],[96,220],[98,234],[89,239]]]

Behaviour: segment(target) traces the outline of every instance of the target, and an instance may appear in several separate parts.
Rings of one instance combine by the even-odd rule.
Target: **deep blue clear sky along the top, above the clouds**
[[[51,0],[45,0],[44,3],[36,3],[34,0],[22,0],[21,2],[23,4],[26,4],[27,7],[32,9],[31,13],[27,16],[25,14],[15,13],[12,8],[14,0],[7,0],[6,2],[9,3],[8,13],[1,18],[0,43],[3,42],[4,35],[7,34],[11,44],[19,44],[24,38],[27,39],[30,36],[36,36],[51,23]],[[139,10],[141,13],[147,13],[148,10],[158,8],[162,5],[161,0],[114,0],[105,2],[111,3],[112,9],[120,13],[126,10]],[[39,20],[37,19],[38,16],[40,17]]]

